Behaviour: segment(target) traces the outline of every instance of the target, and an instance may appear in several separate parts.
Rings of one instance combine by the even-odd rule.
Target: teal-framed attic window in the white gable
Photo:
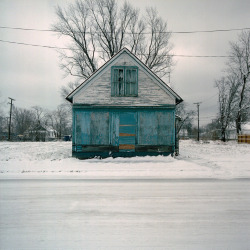
[[[111,96],[138,95],[138,67],[115,66],[111,68]]]

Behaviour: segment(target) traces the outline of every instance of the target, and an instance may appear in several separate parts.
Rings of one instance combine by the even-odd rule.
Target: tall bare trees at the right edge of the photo
[[[237,134],[247,121],[250,110],[250,32],[243,31],[237,42],[231,42],[228,74],[216,82],[219,90],[219,115],[222,140],[229,125],[235,123]]]

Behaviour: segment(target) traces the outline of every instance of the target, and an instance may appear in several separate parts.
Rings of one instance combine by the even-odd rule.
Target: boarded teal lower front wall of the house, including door
[[[73,109],[73,152],[172,152],[174,109]]]

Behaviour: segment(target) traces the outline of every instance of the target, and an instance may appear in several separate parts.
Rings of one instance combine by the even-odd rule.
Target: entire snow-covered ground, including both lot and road
[[[249,250],[250,145],[78,160],[69,142],[0,142],[0,249]]]

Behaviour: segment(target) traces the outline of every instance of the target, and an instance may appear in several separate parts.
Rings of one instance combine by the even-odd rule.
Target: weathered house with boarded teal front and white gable
[[[73,104],[74,157],[175,152],[175,106],[182,98],[126,48],[66,99]]]

